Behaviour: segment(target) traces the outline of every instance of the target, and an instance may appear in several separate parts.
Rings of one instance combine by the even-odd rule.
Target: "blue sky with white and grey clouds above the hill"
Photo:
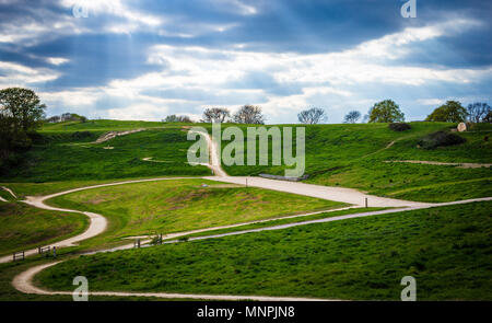
[[[48,116],[140,120],[492,104],[492,1],[414,1],[415,18],[401,0],[0,0],[0,89],[34,90]]]

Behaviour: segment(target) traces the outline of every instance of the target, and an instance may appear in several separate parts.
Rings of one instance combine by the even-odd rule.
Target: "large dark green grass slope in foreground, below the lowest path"
[[[36,276],[71,290],[399,300],[492,300],[492,203],[302,226],[145,250],[80,256]]]

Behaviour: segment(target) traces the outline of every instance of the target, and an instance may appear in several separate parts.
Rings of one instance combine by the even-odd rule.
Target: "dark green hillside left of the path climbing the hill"
[[[58,181],[113,180],[166,175],[210,175],[206,166],[191,166],[186,152],[192,143],[179,128],[150,129],[102,143],[75,139],[71,132],[42,132],[43,140],[25,153],[24,164],[2,182],[43,183]],[[113,149],[104,149],[113,147]],[[143,161],[153,157],[166,162]]]

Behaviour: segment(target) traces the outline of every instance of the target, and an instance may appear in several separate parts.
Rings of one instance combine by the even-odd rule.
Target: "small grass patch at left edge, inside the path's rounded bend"
[[[22,203],[0,203],[0,255],[22,251],[83,232],[85,216],[37,209]]]

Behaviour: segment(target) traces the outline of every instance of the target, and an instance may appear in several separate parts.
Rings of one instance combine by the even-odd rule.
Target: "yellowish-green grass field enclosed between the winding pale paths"
[[[202,187],[207,184],[208,187]],[[48,200],[50,205],[104,215],[105,240],[171,233],[277,218],[345,206],[282,192],[177,180],[87,189]],[[101,241],[99,241],[101,242]]]

